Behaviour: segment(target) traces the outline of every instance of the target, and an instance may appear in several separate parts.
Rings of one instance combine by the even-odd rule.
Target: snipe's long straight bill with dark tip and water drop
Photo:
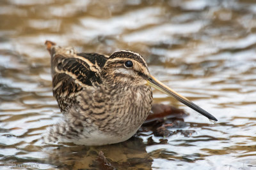
[[[186,104],[187,106],[189,106],[189,108],[192,108],[193,110],[197,111],[198,113],[201,113],[205,117],[207,117],[211,120],[214,120],[214,121],[218,121],[214,116],[212,116],[210,113],[208,113],[207,111],[205,111],[202,108],[200,108],[199,106],[197,106],[195,103],[192,103],[191,101],[189,101],[186,97],[181,96],[180,94],[178,94],[174,90],[170,89],[169,87],[167,87],[160,81],[156,80],[156,78],[154,78],[154,76],[150,75],[150,77],[147,80],[147,83],[151,87],[154,87],[157,90],[164,92],[168,96],[175,97],[175,99],[177,99],[178,101],[180,101],[183,104]]]

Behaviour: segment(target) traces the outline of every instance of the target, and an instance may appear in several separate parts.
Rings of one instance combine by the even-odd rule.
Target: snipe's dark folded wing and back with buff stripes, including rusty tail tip
[[[47,41],[51,53],[52,91],[60,110],[64,113],[77,103],[81,90],[100,83],[100,71],[108,57],[98,53],[76,53],[72,48],[61,48]]]

